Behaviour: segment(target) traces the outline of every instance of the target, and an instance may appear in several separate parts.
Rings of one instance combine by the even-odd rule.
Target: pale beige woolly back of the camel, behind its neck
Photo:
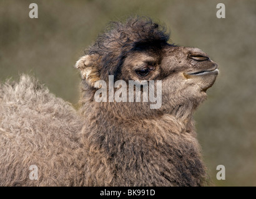
[[[71,104],[27,75],[1,85],[0,93],[0,186],[79,185],[82,123]],[[31,165],[38,180],[29,180]]]

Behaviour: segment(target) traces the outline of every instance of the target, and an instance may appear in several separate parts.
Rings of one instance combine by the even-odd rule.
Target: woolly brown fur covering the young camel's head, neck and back
[[[168,40],[165,29],[146,17],[112,23],[76,63],[82,76],[79,113],[29,76],[2,84],[0,185],[205,185],[192,120],[205,93],[194,80],[183,85],[175,79],[194,61],[187,61],[191,49]],[[162,67],[154,78],[163,80],[162,108],[96,103],[94,82],[108,81],[108,75],[129,80],[138,55],[150,55]],[[29,179],[30,165],[39,167],[38,180]]]

